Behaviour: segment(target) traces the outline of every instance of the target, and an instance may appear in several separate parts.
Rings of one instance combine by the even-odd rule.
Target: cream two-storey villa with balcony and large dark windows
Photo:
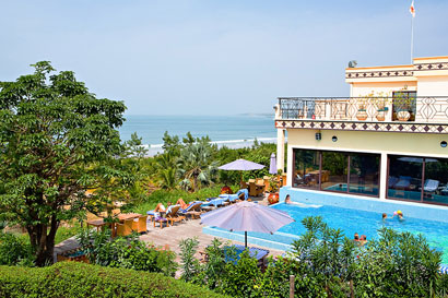
[[[349,68],[350,97],[279,98],[294,190],[448,205],[448,57]]]

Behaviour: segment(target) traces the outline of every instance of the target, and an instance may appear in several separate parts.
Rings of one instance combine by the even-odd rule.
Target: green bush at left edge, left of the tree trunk
[[[26,237],[0,233],[0,265],[33,265],[33,253]]]

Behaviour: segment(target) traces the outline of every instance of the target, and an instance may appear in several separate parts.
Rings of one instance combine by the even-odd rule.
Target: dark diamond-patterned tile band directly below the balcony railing
[[[281,120],[275,121],[275,128],[448,134],[448,123]]]

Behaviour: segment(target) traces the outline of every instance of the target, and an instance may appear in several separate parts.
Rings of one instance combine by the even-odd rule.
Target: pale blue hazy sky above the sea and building
[[[0,0],[0,81],[51,61],[126,115],[273,114],[411,61],[411,0]],[[414,57],[448,55],[447,0],[415,0]]]

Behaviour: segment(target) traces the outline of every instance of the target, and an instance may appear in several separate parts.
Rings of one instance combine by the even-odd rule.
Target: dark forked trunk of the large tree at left
[[[59,220],[56,219],[56,215],[51,217],[49,231],[48,225],[44,224],[26,227],[37,266],[45,266],[54,263],[55,237],[58,227]]]

